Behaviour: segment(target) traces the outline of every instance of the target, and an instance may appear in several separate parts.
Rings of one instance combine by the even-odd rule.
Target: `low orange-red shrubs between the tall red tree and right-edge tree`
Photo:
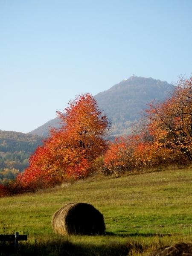
[[[160,145],[154,137],[147,134],[131,134],[116,138],[109,143],[105,153],[105,174],[120,174],[125,171],[139,170],[173,163],[178,159],[175,151]]]

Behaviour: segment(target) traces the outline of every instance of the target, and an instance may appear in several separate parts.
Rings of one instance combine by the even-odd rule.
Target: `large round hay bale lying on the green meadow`
[[[91,204],[70,203],[52,216],[52,227],[61,235],[95,235],[105,231],[103,215]]]

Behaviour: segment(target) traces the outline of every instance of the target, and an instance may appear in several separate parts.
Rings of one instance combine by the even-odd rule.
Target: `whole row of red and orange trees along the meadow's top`
[[[192,77],[180,79],[164,102],[151,102],[131,134],[107,141],[110,122],[90,93],[57,112],[53,128],[29,166],[1,194],[34,191],[101,170],[106,175],[192,160]]]

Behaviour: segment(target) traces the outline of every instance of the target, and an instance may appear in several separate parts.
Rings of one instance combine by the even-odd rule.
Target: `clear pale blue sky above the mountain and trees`
[[[81,92],[192,74],[192,0],[0,0],[0,129],[29,132]]]

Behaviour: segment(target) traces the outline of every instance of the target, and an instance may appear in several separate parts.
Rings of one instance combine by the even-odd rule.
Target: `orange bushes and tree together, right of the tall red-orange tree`
[[[164,102],[151,102],[131,135],[109,144],[108,173],[192,160],[192,77],[180,79]],[[105,170],[105,173],[107,171]]]

